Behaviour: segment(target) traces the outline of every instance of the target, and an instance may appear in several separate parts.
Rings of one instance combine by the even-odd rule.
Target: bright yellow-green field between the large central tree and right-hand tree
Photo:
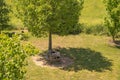
[[[88,25],[102,24],[105,16],[106,10],[103,0],[84,0],[80,23]]]

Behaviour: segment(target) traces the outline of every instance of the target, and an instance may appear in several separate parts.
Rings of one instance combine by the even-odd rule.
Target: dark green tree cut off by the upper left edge
[[[9,9],[5,0],[0,0],[0,32],[9,27]]]

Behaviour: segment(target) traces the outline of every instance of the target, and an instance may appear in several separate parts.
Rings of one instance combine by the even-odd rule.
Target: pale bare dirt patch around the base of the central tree
[[[74,63],[73,59],[70,59],[69,57],[61,57],[60,62],[52,62],[52,63],[47,61],[45,56],[33,56],[32,60],[37,66],[49,67],[49,68],[65,68]]]

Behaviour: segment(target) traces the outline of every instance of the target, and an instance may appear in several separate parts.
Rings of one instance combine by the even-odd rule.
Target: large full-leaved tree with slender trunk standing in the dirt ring
[[[16,15],[35,36],[49,34],[49,56],[52,34],[68,34],[79,23],[83,0],[14,0]]]

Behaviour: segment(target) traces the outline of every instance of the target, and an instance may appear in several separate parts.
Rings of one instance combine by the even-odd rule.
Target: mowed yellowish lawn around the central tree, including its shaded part
[[[29,58],[27,80],[120,80],[120,48],[106,36],[86,34],[53,36],[53,48],[74,59],[74,64],[64,68],[36,66]],[[47,38],[29,40],[42,51],[47,50]]]

